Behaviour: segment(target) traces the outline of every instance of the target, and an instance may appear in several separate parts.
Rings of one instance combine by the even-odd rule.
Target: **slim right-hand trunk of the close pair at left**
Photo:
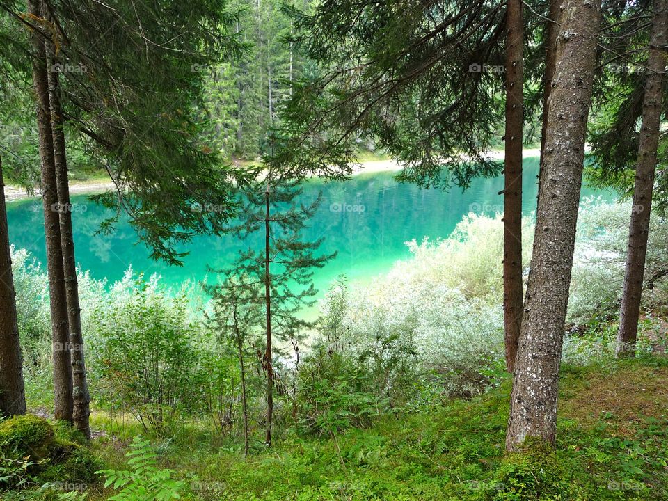
[[[84,335],[81,332],[81,307],[79,306],[79,284],[77,283],[77,260],[74,257],[74,237],[72,232],[72,204],[70,186],[67,180],[67,155],[65,153],[65,131],[61,109],[58,73],[53,70],[56,63],[54,47],[49,42],[47,65],[49,77],[49,101],[51,102],[51,129],[54,134],[54,161],[56,164],[56,184],[58,191],[58,216],[61,229],[63,251],[63,271],[65,273],[65,293],[67,294],[67,320],[70,324],[70,356],[72,358],[72,417],[74,427],[90,438],[90,395],[86,380],[84,360]]]

